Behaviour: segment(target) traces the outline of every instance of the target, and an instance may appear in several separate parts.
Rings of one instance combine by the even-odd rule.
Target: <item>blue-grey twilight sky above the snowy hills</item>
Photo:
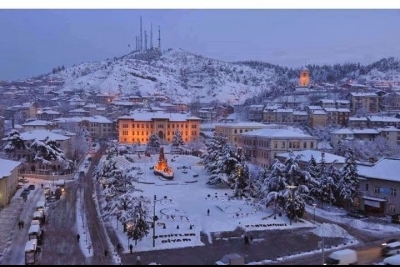
[[[153,24],[153,44],[160,25],[162,48],[224,61],[300,67],[400,58],[399,10],[2,9],[0,80],[126,54],[140,16],[148,35]]]

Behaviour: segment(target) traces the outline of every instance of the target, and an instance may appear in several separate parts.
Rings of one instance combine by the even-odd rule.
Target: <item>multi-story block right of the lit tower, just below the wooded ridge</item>
[[[367,113],[379,111],[379,96],[376,93],[349,93],[347,98],[350,101],[351,114],[359,110]]]

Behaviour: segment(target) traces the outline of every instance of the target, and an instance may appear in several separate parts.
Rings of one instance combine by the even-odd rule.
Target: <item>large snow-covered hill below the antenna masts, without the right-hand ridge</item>
[[[174,101],[229,101],[232,104],[275,84],[275,71],[257,70],[183,50],[168,50],[155,59],[137,53],[101,62],[81,63],[50,78],[65,81],[63,90],[96,90],[106,94],[165,95]]]

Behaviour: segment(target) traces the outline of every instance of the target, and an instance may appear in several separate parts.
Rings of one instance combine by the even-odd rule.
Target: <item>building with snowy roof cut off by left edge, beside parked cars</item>
[[[10,203],[17,191],[21,162],[0,159],[0,209]]]

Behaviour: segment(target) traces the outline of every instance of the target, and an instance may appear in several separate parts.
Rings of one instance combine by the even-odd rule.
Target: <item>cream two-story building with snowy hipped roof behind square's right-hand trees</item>
[[[288,150],[315,149],[318,138],[288,129],[259,129],[242,133],[238,146],[242,147],[250,162],[269,167],[277,154]]]

